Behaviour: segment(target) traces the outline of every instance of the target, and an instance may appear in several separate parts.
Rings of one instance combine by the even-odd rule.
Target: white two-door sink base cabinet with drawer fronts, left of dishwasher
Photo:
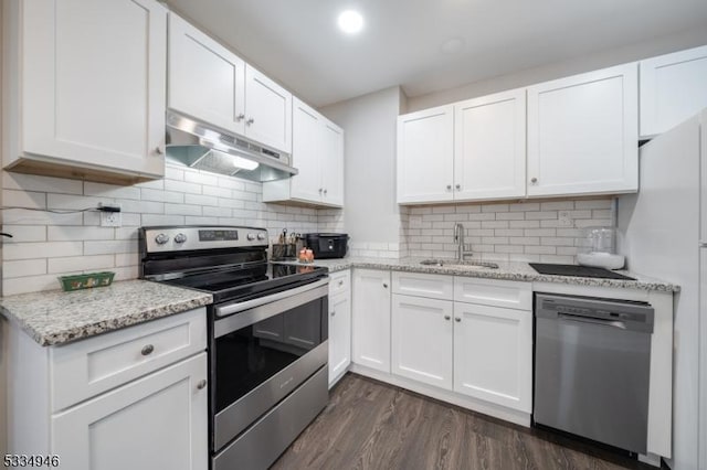
[[[530,414],[530,284],[418,273],[392,282],[392,374]]]

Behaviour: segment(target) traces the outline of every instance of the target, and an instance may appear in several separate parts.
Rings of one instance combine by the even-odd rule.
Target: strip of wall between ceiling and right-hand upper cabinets
[[[569,61],[527,68],[474,82],[460,87],[434,92],[426,95],[409,97],[407,113],[445,105],[467,98],[475,98],[492,93],[519,88],[536,83],[547,82],[599,68],[640,61],[669,52],[680,51],[707,44],[707,28],[687,30],[679,34],[655,38],[637,44],[616,47],[609,51],[582,55]]]

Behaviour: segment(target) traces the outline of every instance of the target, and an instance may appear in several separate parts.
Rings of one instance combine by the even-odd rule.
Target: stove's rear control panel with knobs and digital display
[[[147,253],[267,247],[267,231],[241,226],[154,226],[140,228]]]

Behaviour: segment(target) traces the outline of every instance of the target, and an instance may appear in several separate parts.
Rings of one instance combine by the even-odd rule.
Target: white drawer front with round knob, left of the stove
[[[205,308],[52,348],[52,410],[66,408],[205,348]]]

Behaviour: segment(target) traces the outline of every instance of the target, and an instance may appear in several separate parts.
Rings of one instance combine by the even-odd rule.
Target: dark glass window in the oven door
[[[327,298],[318,298],[215,340],[215,413],[327,340]]]

